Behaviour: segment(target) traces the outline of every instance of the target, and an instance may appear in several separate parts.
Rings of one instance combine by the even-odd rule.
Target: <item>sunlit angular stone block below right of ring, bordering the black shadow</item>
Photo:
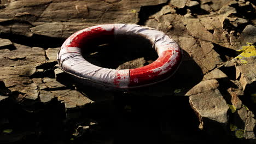
[[[222,124],[228,122],[229,106],[219,92],[218,87],[217,80],[206,80],[200,82],[187,93],[190,105],[201,119],[199,126],[201,129],[203,125],[208,125],[205,119],[211,119]]]

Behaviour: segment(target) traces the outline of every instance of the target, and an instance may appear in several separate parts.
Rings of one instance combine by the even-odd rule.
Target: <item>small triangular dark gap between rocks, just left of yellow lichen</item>
[[[214,43],[213,46],[213,50],[220,55],[220,58],[223,62],[230,61],[232,58],[239,55],[236,50],[232,50]]]

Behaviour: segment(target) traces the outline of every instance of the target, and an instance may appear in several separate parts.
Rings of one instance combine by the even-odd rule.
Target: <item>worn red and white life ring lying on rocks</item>
[[[107,69],[93,65],[82,56],[82,49],[92,40],[113,40],[118,35],[142,35],[148,39],[159,58],[135,69]],[[57,54],[60,68],[84,83],[92,82],[114,88],[134,88],[151,85],[170,77],[182,61],[182,50],[165,33],[134,24],[115,23],[82,29],[71,35]]]

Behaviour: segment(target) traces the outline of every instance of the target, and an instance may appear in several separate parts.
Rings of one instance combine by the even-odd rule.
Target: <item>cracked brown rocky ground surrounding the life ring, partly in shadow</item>
[[[0,2],[0,143],[256,143],[255,1]],[[128,92],[78,85],[56,53],[69,35],[103,23],[165,32],[183,49],[181,67]],[[142,67],[157,57],[144,42],[124,39],[86,57]]]

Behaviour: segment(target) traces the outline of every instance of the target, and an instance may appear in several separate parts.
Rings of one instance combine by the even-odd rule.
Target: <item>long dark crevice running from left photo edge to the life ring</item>
[[[63,38],[47,37],[45,35],[33,34],[31,37],[19,34],[0,33],[0,38],[9,39],[13,43],[26,45],[30,47],[42,47],[48,49],[49,47],[61,47],[65,41]]]

